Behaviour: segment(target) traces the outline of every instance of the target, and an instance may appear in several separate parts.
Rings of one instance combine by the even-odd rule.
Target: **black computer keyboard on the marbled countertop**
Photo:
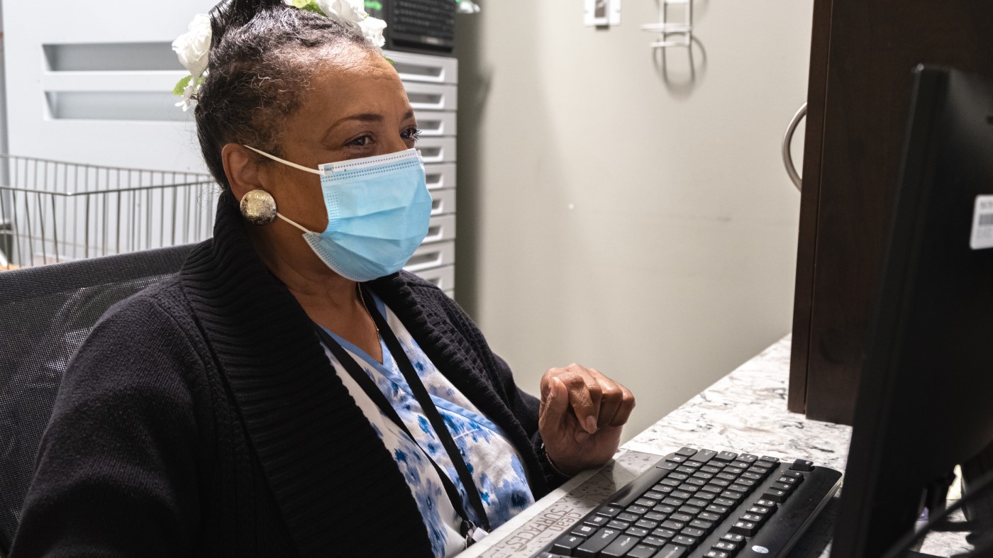
[[[682,448],[534,556],[785,556],[841,484],[811,462]]]

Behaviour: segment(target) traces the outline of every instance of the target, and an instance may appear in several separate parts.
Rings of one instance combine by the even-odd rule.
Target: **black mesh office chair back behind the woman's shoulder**
[[[111,305],[176,273],[192,247],[0,272],[0,556],[10,552],[66,363]]]

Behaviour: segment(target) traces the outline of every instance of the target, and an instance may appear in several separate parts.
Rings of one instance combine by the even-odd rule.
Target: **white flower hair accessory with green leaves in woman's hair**
[[[361,33],[365,40],[377,49],[382,48],[386,43],[382,36],[386,22],[370,17],[365,12],[363,0],[283,0],[283,2],[287,6],[314,12],[339,22]],[[173,41],[173,50],[176,51],[180,64],[190,71],[190,75],[180,79],[173,88],[173,94],[183,97],[176,106],[182,106],[184,111],[190,110],[191,101],[197,99],[200,86],[207,77],[207,64],[211,57],[211,34],[211,16],[197,14],[190,22],[189,30]]]

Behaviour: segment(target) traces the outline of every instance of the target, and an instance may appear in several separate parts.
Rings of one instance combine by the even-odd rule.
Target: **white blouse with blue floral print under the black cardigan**
[[[385,304],[373,296],[379,314],[393,331],[407,358],[417,370],[417,375],[427,388],[452,438],[455,439],[466,466],[480,491],[483,505],[486,508],[492,528],[506,522],[520,510],[534,502],[534,496],[527,484],[527,476],[521,465],[520,455],[506,439],[503,432],[489,418],[483,415],[469,399],[463,395],[424,354],[417,342],[410,336],[399,319],[393,315]],[[327,331],[327,330],[326,330]],[[344,349],[355,358],[366,374],[372,378],[375,385],[386,396],[386,399],[396,409],[400,419],[413,433],[416,440],[409,436],[386,416],[379,407],[355,383],[345,367],[325,348],[339,377],[355,398],[355,403],[369,420],[372,429],[382,440],[383,445],[396,460],[397,467],[403,473],[417,507],[420,509],[431,538],[431,548],[435,556],[441,558],[453,556],[465,548],[465,538],[459,534],[461,517],[455,511],[445,488],[442,485],[437,470],[431,466],[426,456],[438,464],[448,474],[449,479],[462,495],[463,508],[476,524],[481,521],[465,487],[459,479],[449,459],[448,453],[442,446],[434,428],[421,410],[420,403],[413,396],[407,381],[400,372],[396,361],[380,340],[383,362],[380,364],[374,358],[358,349],[355,345],[339,336],[328,333]]]

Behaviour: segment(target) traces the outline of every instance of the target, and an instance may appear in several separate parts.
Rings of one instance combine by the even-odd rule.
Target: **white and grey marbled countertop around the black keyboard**
[[[809,459],[844,472],[851,427],[808,420],[786,411],[789,376],[786,336],[696,395],[622,447],[603,469],[581,474],[541,498],[460,558],[530,555],[563,533],[618,488],[683,446]],[[838,496],[790,552],[790,558],[826,557]],[[961,535],[928,535],[922,552],[948,556],[971,547]]]

